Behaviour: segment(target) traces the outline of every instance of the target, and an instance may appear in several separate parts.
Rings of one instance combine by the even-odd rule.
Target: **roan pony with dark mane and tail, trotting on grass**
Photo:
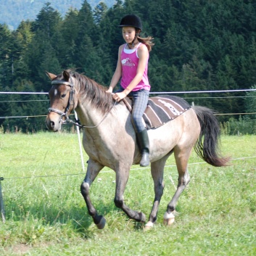
[[[190,181],[188,161],[193,148],[202,160],[212,166],[228,165],[229,158],[219,152],[218,120],[207,107],[191,107],[165,125],[150,129],[148,134],[154,202],[146,222],[144,213],[131,210],[125,205],[123,197],[131,165],[138,165],[141,159],[131,112],[122,101],[115,102],[104,86],[86,75],[72,70],[64,70],[59,75],[46,74],[52,84],[46,127],[49,131],[59,131],[62,123],[68,121],[79,125],[69,118],[70,112],[75,110],[80,120],[79,126],[83,129],[83,148],[89,160],[80,192],[97,228],[104,228],[106,220],[96,211],[89,190],[104,166],[115,171],[115,206],[123,210],[128,218],[146,223],[144,228],[152,228],[157,220],[164,189],[165,162],[171,154],[174,154],[176,160],[178,186],[164,215],[166,225],[171,225],[175,220],[178,198]]]

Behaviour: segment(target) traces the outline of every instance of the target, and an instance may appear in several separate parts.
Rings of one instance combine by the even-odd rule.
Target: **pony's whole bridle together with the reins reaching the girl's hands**
[[[67,115],[67,112],[68,110],[70,110],[70,106],[71,105],[75,105],[75,102],[74,102],[74,94],[75,94],[75,89],[74,89],[74,84],[73,84],[73,80],[72,78],[70,77],[70,81],[71,83],[65,81],[65,80],[53,80],[51,82],[51,85],[66,85],[66,86],[70,86],[70,96],[69,96],[69,99],[68,99],[68,103],[67,103],[67,107],[66,107],[66,110],[65,112],[62,112],[60,110],[57,110],[57,109],[54,109],[52,107],[49,107],[48,111],[49,112],[55,112],[57,114],[59,114],[59,122],[62,123],[62,124],[67,124],[68,123],[73,123],[74,125],[78,126],[79,128],[96,128],[97,126],[99,126],[103,121],[104,119],[107,117],[107,115],[110,113],[110,111],[112,110],[113,107],[115,107],[115,104],[117,103],[117,101],[115,101],[115,104],[113,104],[113,106],[111,107],[110,111],[108,111],[104,117],[102,118],[102,120],[97,124],[97,125],[94,125],[94,126],[86,126],[86,125],[80,125],[78,123],[78,120],[75,120],[75,122],[73,120],[70,120],[70,117]],[[75,111],[75,110],[74,110]],[[62,117],[65,117],[66,119],[65,120],[62,120]]]

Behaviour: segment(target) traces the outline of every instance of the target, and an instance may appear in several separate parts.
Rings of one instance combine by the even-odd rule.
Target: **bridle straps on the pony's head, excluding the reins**
[[[70,83],[65,81],[65,80],[53,80],[51,82],[51,85],[65,85],[65,86],[70,86],[70,96],[69,96],[69,99],[68,99],[68,103],[67,103],[67,107],[66,107],[66,110],[65,112],[62,112],[60,110],[57,110],[57,109],[54,109],[52,107],[49,107],[49,112],[55,112],[57,114],[60,115],[59,117],[59,122],[60,123],[63,123],[63,124],[66,124],[67,121],[70,122],[70,119],[67,115],[67,112],[68,110],[70,110],[70,106],[74,106],[75,105],[75,102],[74,102],[74,94],[75,94],[75,89],[74,89],[74,84],[73,84],[73,80],[72,78],[70,78]],[[62,120],[62,117],[65,117],[66,119],[65,120]]]

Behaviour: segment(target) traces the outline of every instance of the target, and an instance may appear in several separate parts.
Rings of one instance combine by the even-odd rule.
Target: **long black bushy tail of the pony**
[[[220,125],[214,112],[207,107],[192,107],[197,114],[201,126],[201,132],[195,152],[210,165],[220,167],[228,165],[230,157],[222,157],[219,154],[218,144],[220,139]]]

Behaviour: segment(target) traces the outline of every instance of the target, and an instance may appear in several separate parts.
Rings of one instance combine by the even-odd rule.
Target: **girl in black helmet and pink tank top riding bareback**
[[[133,99],[133,112],[131,120],[136,131],[136,138],[141,151],[141,166],[149,165],[149,137],[142,122],[142,115],[149,99],[149,79],[147,68],[149,51],[151,51],[152,37],[141,38],[141,20],[136,15],[126,15],[120,22],[119,27],[123,30],[123,39],[126,44],[119,47],[118,60],[115,73],[112,76],[110,88],[107,92],[112,93],[113,88],[121,78],[121,89],[113,94],[113,98],[120,102],[125,96]]]

